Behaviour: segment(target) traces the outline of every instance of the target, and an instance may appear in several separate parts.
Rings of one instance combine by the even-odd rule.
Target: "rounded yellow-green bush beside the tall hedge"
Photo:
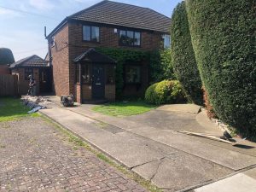
[[[184,94],[177,80],[163,80],[152,84],[145,93],[145,101],[154,104],[184,102]]]

